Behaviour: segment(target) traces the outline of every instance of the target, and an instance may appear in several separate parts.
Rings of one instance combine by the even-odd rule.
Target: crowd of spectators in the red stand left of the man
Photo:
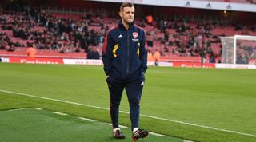
[[[7,6],[2,12],[5,15],[0,19],[2,30],[12,30],[13,37],[34,41],[36,49],[54,49],[60,53],[91,52],[88,47],[101,44],[106,31],[100,18],[92,20],[90,15],[80,19],[58,18],[20,5]],[[101,30],[89,30],[90,25],[98,25]]]

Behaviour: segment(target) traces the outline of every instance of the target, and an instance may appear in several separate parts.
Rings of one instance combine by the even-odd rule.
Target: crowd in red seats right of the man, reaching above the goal
[[[159,31],[148,30],[148,45],[154,47],[154,41],[160,41],[161,54],[174,53],[183,57],[207,57],[210,62],[221,61],[222,46],[220,36],[232,36],[232,33],[250,35],[255,31],[255,26],[245,26],[241,23],[229,22],[191,21],[190,18],[156,18],[156,22],[149,23],[144,18],[140,26],[155,26]],[[229,29],[230,33],[226,33]],[[219,32],[214,32],[219,30]],[[157,33],[163,33],[159,36]],[[157,36],[155,36],[157,35]],[[218,45],[218,52],[216,51]],[[215,48],[215,51],[214,51]]]

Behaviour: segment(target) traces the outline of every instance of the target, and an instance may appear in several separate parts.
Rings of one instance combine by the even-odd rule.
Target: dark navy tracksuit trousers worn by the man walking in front
[[[119,105],[122,98],[122,92],[126,89],[126,94],[130,106],[131,128],[138,128],[139,103],[142,97],[142,89],[145,77],[137,77],[130,81],[121,81],[116,77],[107,77],[106,82],[110,91],[110,116],[113,128],[118,128]]]

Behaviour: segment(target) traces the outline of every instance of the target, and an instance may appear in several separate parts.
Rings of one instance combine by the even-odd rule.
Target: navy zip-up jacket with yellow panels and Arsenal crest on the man
[[[129,80],[141,76],[147,66],[146,33],[132,23],[126,30],[121,20],[108,31],[102,49],[106,75]]]

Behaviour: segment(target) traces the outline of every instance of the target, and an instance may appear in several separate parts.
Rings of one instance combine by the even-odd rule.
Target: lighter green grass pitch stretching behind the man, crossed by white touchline
[[[150,67],[141,128],[182,140],[256,141],[255,86],[250,69]],[[28,107],[110,123],[102,66],[0,64],[0,110]],[[120,109],[130,127],[125,93]]]

